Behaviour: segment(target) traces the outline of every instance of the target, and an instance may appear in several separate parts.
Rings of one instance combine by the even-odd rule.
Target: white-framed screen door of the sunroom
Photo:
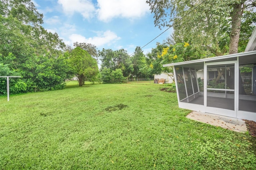
[[[236,61],[205,63],[204,70],[206,112],[236,117]]]

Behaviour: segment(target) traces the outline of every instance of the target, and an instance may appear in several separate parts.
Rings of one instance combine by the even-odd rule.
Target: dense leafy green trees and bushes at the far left
[[[66,45],[40,25],[42,18],[31,0],[1,1],[0,63],[22,76],[12,94],[63,89],[71,76],[61,51]]]

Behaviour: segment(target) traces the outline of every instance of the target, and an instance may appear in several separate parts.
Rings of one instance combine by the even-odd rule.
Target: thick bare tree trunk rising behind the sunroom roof
[[[242,4],[234,4],[232,18],[231,35],[229,43],[229,54],[238,53],[238,40],[240,36],[240,26],[242,18]]]

